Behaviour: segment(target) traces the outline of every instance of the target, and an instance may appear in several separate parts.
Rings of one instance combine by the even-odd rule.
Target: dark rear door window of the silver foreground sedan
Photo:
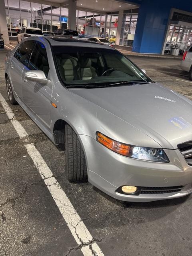
[[[21,44],[15,54],[15,58],[17,58],[22,64],[27,66],[28,64],[28,57],[30,51],[32,50],[34,45],[34,41],[26,41]]]

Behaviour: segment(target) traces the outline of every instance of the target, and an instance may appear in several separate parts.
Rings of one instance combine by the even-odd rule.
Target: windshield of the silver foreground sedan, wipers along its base
[[[141,70],[116,50],[53,46],[60,78],[67,85],[115,84],[151,82]],[[126,83],[125,83],[126,84]]]

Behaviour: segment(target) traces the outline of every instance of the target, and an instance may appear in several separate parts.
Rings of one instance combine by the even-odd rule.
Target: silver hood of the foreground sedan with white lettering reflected
[[[192,101],[161,84],[72,91],[136,127],[162,148],[176,149],[192,140]]]

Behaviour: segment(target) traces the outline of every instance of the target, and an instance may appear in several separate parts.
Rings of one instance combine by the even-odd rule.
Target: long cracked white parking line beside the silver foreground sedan
[[[96,244],[94,238],[86,228],[84,222],[76,212],[75,208],[71,204],[65,192],[62,190],[58,181],[54,177],[50,168],[42,158],[33,143],[28,143],[28,134],[23,126],[15,119],[15,115],[12,112],[10,106],[0,93],[0,103],[4,108],[8,118],[12,122],[16,132],[21,139],[24,139],[24,146],[32,158],[37,170],[39,171],[42,179],[44,180],[52,198],[54,199],[60,213],[62,214],[68,228],[70,229],[74,239],[76,240],[79,248],[84,256],[104,256],[100,250],[98,244]]]

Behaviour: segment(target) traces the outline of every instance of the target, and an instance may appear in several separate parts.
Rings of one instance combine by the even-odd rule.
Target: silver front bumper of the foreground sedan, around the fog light
[[[121,156],[93,138],[80,135],[88,167],[88,180],[106,194],[124,201],[150,202],[192,193],[192,166],[179,150],[164,150],[170,163],[149,162]],[[116,192],[120,186],[174,187],[179,192],[125,195]]]

